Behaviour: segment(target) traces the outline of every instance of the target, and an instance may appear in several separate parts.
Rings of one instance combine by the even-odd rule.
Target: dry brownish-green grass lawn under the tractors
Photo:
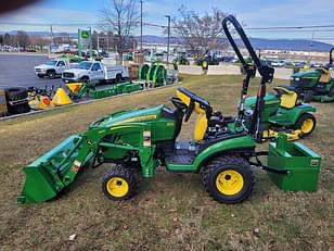
[[[234,114],[241,78],[184,76],[187,88]],[[278,81],[275,83],[278,84]],[[275,84],[272,84],[274,86]],[[22,167],[70,134],[117,110],[168,103],[175,87],[0,123],[0,250],[330,250],[334,249],[333,104],[316,104],[318,128],[303,140],[324,158],[319,191],[283,192],[256,172],[242,204],[213,201],[197,175],[159,168],[130,201],[104,198],[108,168],[86,170],[59,199],[17,205]],[[255,91],[255,88],[252,89]],[[191,123],[181,138],[191,137]],[[261,146],[266,148],[266,146]],[[74,241],[68,236],[76,234]]]

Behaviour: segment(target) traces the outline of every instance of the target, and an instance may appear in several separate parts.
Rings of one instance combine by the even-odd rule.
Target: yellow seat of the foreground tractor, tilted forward
[[[190,105],[190,97],[188,97],[185,93],[177,90],[177,97],[187,105]],[[201,108],[198,102],[195,102],[194,104],[194,112],[198,114],[195,123],[194,128],[194,140],[200,141],[204,138],[205,131],[207,129],[207,117],[206,112],[204,109]]]

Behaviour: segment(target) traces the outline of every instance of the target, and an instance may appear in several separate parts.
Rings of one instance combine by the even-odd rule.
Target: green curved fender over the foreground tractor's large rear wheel
[[[198,172],[201,166],[205,165],[217,155],[227,154],[229,152],[253,152],[255,147],[256,142],[254,138],[248,135],[218,141],[198,153],[193,163],[194,170]]]

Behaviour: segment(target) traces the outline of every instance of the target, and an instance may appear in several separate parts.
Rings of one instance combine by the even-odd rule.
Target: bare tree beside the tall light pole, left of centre
[[[110,0],[101,10],[101,28],[114,35],[112,43],[120,55],[132,48],[131,33],[139,26],[139,17],[136,0]]]

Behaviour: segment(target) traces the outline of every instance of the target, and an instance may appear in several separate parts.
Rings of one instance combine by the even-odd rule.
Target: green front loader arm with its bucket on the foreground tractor
[[[151,125],[127,123],[100,126],[103,120],[93,123],[85,134],[70,136],[25,166],[26,181],[17,202],[42,202],[55,198],[76,179],[82,168],[94,165],[97,161],[101,164],[105,160],[115,162],[125,159],[129,152],[138,155],[142,175],[151,177],[155,166]],[[121,136],[118,137],[119,135]],[[113,136],[117,136],[114,141],[106,140]]]

